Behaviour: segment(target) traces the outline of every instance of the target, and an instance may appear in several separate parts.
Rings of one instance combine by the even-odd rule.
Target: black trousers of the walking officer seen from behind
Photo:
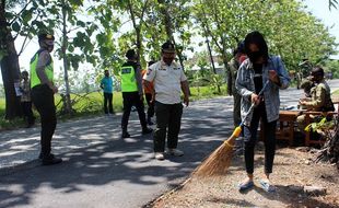
[[[136,106],[138,111],[139,120],[142,126],[142,129],[145,129],[147,122],[145,122],[144,106],[143,106],[143,102],[140,100],[139,93],[138,92],[122,92],[122,100],[124,100],[124,113],[121,117],[122,130],[127,131],[128,119],[129,119],[130,111],[133,105]]]

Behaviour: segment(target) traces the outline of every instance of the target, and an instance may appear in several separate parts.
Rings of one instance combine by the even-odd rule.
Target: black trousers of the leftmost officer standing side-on
[[[39,84],[32,89],[31,94],[42,119],[42,154],[43,158],[47,158],[50,154],[50,142],[57,127],[54,92],[47,84]]]

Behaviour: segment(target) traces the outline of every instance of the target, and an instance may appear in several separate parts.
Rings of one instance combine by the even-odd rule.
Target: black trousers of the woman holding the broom
[[[277,120],[271,123],[267,122],[265,103],[260,103],[260,105],[254,109],[250,126],[244,126],[245,164],[247,174],[254,173],[254,151],[260,118],[265,127],[265,173],[272,173],[276,154]]]

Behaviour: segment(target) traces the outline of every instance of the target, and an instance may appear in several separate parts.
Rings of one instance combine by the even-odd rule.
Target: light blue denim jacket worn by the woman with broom
[[[284,68],[284,65],[280,57],[278,56],[269,56],[267,65],[262,66],[262,86],[268,79],[268,71],[276,70],[280,79],[280,85],[269,81],[268,85],[264,91],[264,100],[265,107],[267,114],[267,122],[273,122],[279,118],[279,107],[280,107],[280,97],[279,97],[279,89],[283,90],[289,88],[290,85],[290,77],[288,71]],[[250,95],[255,92],[255,83],[254,83],[254,74],[255,71],[253,69],[253,63],[247,58],[239,67],[235,88],[237,92],[242,95],[242,120],[244,125],[249,126],[253,112],[246,117],[246,114],[252,105]]]

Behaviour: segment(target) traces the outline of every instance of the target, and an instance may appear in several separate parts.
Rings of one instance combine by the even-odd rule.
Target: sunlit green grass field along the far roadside
[[[221,86],[221,93],[217,93],[217,90],[212,86],[200,86],[200,88],[190,88],[190,101],[197,101],[201,99],[211,99],[215,96],[226,95],[226,85]],[[62,115],[62,102],[60,94],[55,96],[55,103],[57,106],[57,115],[58,120],[68,120],[74,118],[82,118],[89,116],[98,116],[103,114],[103,93],[102,92],[91,92],[91,93],[82,93],[82,94],[71,94],[72,107],[74,109],[74,114],[72,115]],[[147,104],[145,104],[147,105]],[[122,112],[122,96],[121,92],[114,92],[113,95],[113,106],[114,111],[119,113]],[[34,109],[34,115],[37,118],[37,123],[39,123],[39,116],[37,112]],[[5,101],[3,97],[0,97],[0,130],[4,129],[15,129],[22,128],[25,126],[25,122],[23,118],[15,118],[13,120],[4,119],[5,113]]]

